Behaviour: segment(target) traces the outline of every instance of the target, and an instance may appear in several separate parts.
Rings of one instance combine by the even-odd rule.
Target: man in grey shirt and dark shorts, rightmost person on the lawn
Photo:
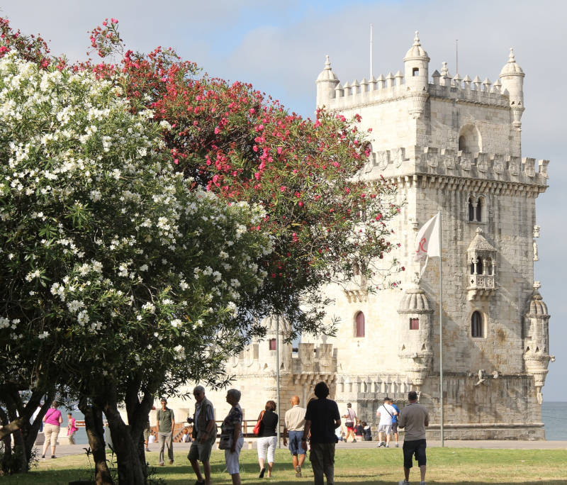
[[[417,392],[410,391],[408,394],[410,401],[408,406],[400,412],[398,428],[405,428],[403,438],[403,472],[405,480],[398,482],[398,485],[410,484],[410,468],[413,466],[412,458],[415,455],[417,464],[420,467],[421,482],[425,485],[425,427],[430,425],[430,414],[425,406],[417,403]]]

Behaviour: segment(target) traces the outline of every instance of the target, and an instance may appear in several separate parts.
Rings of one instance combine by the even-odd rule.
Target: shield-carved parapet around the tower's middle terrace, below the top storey
[[[549,178],[548,165],[549,160],[538,160],[536,165],[536,160],[529,157],[414,146],[373,153],[363,173],[366,179],[432,174],[487,182],[512,182],[545,191]]]

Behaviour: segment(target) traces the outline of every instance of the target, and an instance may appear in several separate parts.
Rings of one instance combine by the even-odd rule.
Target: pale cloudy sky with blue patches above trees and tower
[[[215,77],[252,82],[303,116],[315,110],[315,79],[330,55],[344,82],[369,77],[369,24],[374,26],[374,74],[403,71],[403,56],[419,30],[430,73],[446,61],[459,74],[498,78],[510,47],[524,69],[522,156],[551,160],[549,189],[537,199],[541,226],[535,279],[549,307],[550,353],[544,400],[567,401],[567,2],[335,0],[4,0],[0,15],[23,33],[41,33],[52,53],[84,60],[89,31],[118,18],[132,50],[174,48]],[[561,188],[563,187],[563,189]]]

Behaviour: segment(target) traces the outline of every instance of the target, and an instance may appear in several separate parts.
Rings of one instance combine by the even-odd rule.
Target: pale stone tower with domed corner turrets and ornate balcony
[[[403,289],[369,294],[355,281],[325,289],[335,299],[329,315],[342,319],[328,340],[335,398],[373,420],[383,396],[403,403],[415,389],[430,407],[431,436],[438,433],[438,260],[412,281],[420,271],[412,253],[418,228],[441,211],[445,435],[543,438],[541,388],[553,358],[533,238],[549,161],[522,158],[525,74],[510,50],[494,84],[451,77],[445,63],[430,79],[417,33],[403,62],[403,75],[341,84],[327,57],[318,78],[318,107],[358,113],[361,129],[372,128],[362,177],[397,184],[405,201],[392,227]]]

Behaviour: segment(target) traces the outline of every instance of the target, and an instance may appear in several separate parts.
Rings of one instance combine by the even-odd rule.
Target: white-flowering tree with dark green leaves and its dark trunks
[[[103,411],[123,483],[145,481],[136,445],[153,396],[222,379],[271,252],[264,210],[191,189],[153,116],[90,72],[0,60],[2,382],[57,384],[98,424]]]

